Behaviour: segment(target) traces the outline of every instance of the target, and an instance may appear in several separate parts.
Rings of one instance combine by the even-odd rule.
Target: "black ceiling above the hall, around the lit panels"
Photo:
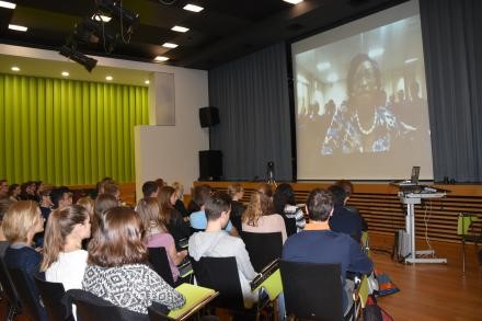
[[[94,0],[8,0],[14,10],[0,8],[0,43],[58,50],[76,23],[91,16]],[[172,4],[165,4],[165,3]],[[292,5],[282,0],[123,0],[139,14],[140,24],[128,44],[119,42],[106,54],[102,45],[80,47],[84,54],[152,61],[167,56],[173,66],[211,69],[265,46],[292,41],[330,28],[403,0],[306,0]],[[186,3],[204,7],[185,11]],[[113,21],[114,22],[114,21]],[[15,32],[9,23],[25,25]],[[171,31],[174,25],[187,33]],[[175,43],[168,49],[162,44]]]

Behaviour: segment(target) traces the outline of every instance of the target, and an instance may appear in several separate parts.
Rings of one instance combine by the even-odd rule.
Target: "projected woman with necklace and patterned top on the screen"
[[[321,154],[389,151],[393,141],[414,128],[386,107],[377,62],[356,55],[348,69],[347,101],[333,116]]]

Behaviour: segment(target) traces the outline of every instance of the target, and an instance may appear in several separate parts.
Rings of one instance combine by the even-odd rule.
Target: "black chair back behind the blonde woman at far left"
[[[47,320],[33,276],[20,268],[8,268],[8,271],[22,303],[22,313],[28,314],[32,320]]]

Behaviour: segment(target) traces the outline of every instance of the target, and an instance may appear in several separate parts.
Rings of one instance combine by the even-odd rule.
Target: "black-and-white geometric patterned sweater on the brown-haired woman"
[[[117,267],[88,265],[82,288],[117,307],[145,314],[152,301],[160,302],[170,310],[185,303],[182,294],[144,264]]]

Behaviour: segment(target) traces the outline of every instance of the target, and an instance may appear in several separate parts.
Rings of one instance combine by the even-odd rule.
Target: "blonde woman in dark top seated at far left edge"
[[[2,230],[10,242],[3,262],[8,268],[21,270],[27,278],[30,291],[38,297],[34,275],[39,273],[42,255],[32,248],[34,236],[44,230],[44,218],[34,200],[19,200],[10,206],[3,216]],[[41,311],[41,320],[47,320],[39,301],[35,302]]]

